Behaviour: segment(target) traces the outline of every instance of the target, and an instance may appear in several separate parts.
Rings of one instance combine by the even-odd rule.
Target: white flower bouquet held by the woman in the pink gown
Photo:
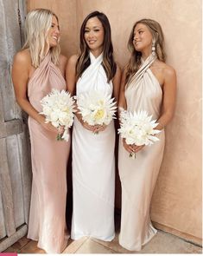
[[[52,91],[41,99],[41,115],[45,115],[45,122],[50,121],[55,128],[64,127],[64,133],[57,135],[58,141],[68,141],[68,128],[73,125],[74,101],[71,95],[63,90]]]

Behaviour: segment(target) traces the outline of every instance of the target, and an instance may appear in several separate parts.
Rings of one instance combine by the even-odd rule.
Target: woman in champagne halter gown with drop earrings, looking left
[[[118,169],[122,184],[122,213],[119,243],[139,251],[155,235],[149,216],[151,196],[162,164],[164,128],[174,115],[176,75],[165,63],[163,33],[159,23],[142,19],[132,28],[130,61],[124,69],[119,111],[146,110],[162,130],[160,141],[149,146],[128,145],[120,139]],[[131,159],[129,154],[135,154]]]

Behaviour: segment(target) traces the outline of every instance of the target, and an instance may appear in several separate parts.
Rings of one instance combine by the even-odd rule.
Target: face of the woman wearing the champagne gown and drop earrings
[[[149,28],[143,23],[136,24],[134,29],[133,45],[136,51],[143,52],[144,50],[151,50],[152,35]]]

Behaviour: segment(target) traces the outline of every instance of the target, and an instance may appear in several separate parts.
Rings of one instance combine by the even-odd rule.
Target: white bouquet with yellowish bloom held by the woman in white
[[[115,118],[116,102],[103,91],[92,90],[78,95],[76,99],[79,114],[89,125],[108,125]]]

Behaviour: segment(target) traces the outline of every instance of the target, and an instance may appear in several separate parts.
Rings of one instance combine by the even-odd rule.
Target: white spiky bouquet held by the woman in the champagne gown
[[[120,114],[118,134],[125,139],[128,145],[151,145],[159,141],[159,138],[155,136],[161,132],[155,129],[157,125],[156,120],[152,120],[152,115],[148,115],[145,110],[134,113],[123,110]],[[130,157],[135,158],[136,154],[130,154]]]

